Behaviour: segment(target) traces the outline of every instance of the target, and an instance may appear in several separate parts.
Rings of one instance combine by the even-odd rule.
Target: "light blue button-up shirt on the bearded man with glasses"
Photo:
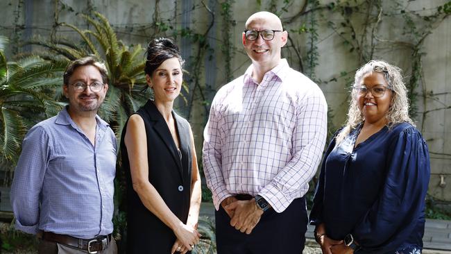
[[[84,239],[112,232],[117,144],[96,121],[95,146],[66,109],[28,131],[10,195],[18,230]]]

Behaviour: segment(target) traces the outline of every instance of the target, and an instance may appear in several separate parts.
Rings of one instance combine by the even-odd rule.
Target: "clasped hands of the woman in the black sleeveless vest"
[[[180,223],[180,225],[173,230],[176,234],[177,240],[172,246],[171,253],[179,251],[181,253],[186,253],[187,251],[192,251],[195,244],[199,243],[199,238],[201,234],[193,226],[185,225]],[[178,249],[180,247],[180,249]]]

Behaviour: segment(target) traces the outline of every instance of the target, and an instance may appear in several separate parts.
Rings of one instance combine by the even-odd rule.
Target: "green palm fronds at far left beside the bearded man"
[[[61,85],[62,78],[55,78],[55,74],[65,67],[64,62],[38,56],[8,61],[3,52],[6,42],[0,37],[0,155],[5,185],[11,180],[26,130],[61,108],[48,94]]]

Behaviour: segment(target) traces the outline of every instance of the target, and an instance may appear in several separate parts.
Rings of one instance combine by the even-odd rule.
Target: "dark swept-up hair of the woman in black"
[[[168,38],[153,39],[147,45],[146,66],[144,72],[152,76],[153,71],[157,69],[165,60],[169,58],[178,58],[181,67],[185,60],[182,59],[178,46]]]

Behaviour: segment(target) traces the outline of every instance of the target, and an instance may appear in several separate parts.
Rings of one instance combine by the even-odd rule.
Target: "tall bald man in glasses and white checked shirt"
[[[276,15],[250,16],[242,36],[252,65],[217,92],[204,131],[218,253],[302,253],[327,104],[281,58],[288,33]]]

